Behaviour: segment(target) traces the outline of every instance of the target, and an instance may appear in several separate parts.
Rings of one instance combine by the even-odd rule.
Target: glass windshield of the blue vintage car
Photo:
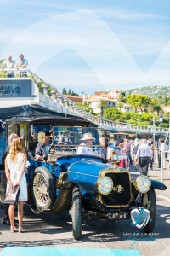
[[[57,151],[69,148],[74,154],[94,154],[105,158],[105,131],[98,128],[53,127],[53,144]]]

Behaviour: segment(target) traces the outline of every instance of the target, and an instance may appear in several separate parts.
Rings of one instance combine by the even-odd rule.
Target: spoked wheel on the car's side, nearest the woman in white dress
[[[37,167],[32,177],[32,199],[38,209],[48,210],[56,198],[55,181],[48,168]]]

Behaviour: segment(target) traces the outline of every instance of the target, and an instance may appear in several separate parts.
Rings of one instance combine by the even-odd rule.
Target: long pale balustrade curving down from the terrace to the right
[[[0,69],[0,72],[8,72],[11,70],[7,69]],[[29,73],[31,78],[34,80],[35,83],[38,81],[42,82],[42,93],[43,95],[47,96],[47,90],[50,88],[51,90],[51,98],[54,101],[57,101],[58,104],[61,106],[67,108],[72,113],[77,114],[81,116],[84,119],[87,119],[89,122],[94,123],[95,125],[98,125],[99,128],[105,128],[109,131],[123,131],[128,133],[136,133],[136,134],[148,134],[148,133],[160,133],[159,127],[150,127],[150,130],[148,128],[148,125],[133,125],[133,124],[127,124],[124,122],[117,122],[112,121],[110,119],[103,119],[96,117],[88,112],[86,112],[84,109],[77,106],[75,102],[72,102],[70,99],[65,97],[63,94],[61,94],[54,86],[51,84],[45,82],[43,79],[41,79],[36,73],[33,73],[30,69],[13,69],[15,75],[18,77],[20,76],[20,73],[24,72],[25,77],[26,73]],[[168,129],[162,128],[161,132],[167,134]]]

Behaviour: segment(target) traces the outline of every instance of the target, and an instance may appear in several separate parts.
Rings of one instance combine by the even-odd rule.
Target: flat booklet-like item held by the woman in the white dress
[[[19,194],[20,194],[19,185],[15,186],[13,189],[8,188],[8,192],[4,200],[4,203],[9,205],[16,205],[18,203]]]

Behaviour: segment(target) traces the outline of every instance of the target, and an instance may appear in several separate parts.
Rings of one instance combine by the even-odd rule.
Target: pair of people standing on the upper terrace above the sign
[[[14,70],[26,69],[27,65],[28,61],[26,61],[23,54],[19,55],[19,61],[17,63],[13,60],[12,56],[9,55],[8,60],[2,64],[1,68],[7,70],[7,78],[14,78]],[[26,71],[20,71],[20,77],[27,77]]]

